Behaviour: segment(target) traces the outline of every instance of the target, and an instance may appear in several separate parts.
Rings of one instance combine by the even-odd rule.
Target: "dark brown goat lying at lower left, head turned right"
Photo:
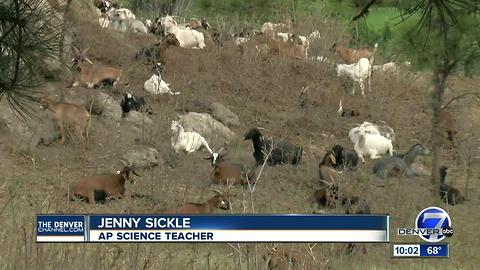
[[[86,199],[91,204],[105,197],[121,198],[125,193],[125,182],[134,181],[130,173],[139,176],[133,168],[125,166],[117,174],[85,177],[70,186],[70,198]],[[103,194],[102,198],[98,198],[98,194]]]

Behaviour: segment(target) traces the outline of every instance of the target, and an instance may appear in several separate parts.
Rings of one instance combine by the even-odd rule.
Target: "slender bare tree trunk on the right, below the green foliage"
[[[433,108],[433,117],[432,117],[432,173],[431,173],[431,182],[432,182],[432,203],[436,204],[440,200],[438,192],[440,190],[440,148],[442,144],[441,130],[439,130],[440,122],[440,111],[442,110],[443,94],[447,85],[447,78],[449,72],[441,71],[436,69],[433,74],[433,93],[432,93],[432,108]]]

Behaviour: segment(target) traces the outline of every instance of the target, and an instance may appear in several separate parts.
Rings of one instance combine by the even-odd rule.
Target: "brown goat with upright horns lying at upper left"
[[[85,85],[87,88],[93,88],[102,82],[112,82],[113,87],[115,87],[120,80],[122,71],[113,67],[91,66],[92,61],[85,56],[87,50],[88,48],[79,53],[79,50],[74,47],[75,58],[72,59],[74,79],[71,87]]]

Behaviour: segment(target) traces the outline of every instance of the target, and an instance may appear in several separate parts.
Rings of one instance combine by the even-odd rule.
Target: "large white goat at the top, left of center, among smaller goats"
[[[160,22],[165,29],[165,34],[174,34],[180,42],[180,47],[193,49],[206,47],[205,37],[202,32],[179,27],[173,17],[169,15],[162,17]]]

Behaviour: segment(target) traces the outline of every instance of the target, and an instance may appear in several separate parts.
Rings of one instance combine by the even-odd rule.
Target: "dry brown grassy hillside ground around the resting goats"
[[[134,61],[142,47],[155,43],[153,37],[124,36],[107,33],[85,21],[75,21],[79,47],[91,47],[89,56],[105,65],[121,67],[122,85],[112,89],[84,89],[80,95],[105,91],[118,101],[122,93],[132,91],[146,96],[155,114],[153,128],[134,131],[125,124],[105,123],[93,119],[90,148],[68,141],[24,150],[11,134],[0,132],[0,264],[6,269],[266,269],[262,256],[266,244],[36,244],[35,215],[38,213],[156,213],[187,201],[201,202],[212,196],[209,191],[211,167],[203,160],[205,153],[175,154],[170,146],[170,122],[188,111],[206,112],[211,102],[228,106],[240,119],[232,129],[237,138],[230,143],[229,158],[253,164],[250,141],[243,134],[251,127],[269,130],[264,135],[286,138],[305,147],[302,163],[267,167],[255,192],[235,187],[231,198],[232,213],[312,213],[310,202],[318,183],[318,162],[324,151],[335,144],[353,149],[347,132],[356,123],[385,121],[394,128],[394,148],[405,152],[416,139],[430,147],[431,110],[429,75],[403,70],[399,75],[375,73],[372,92],[363,98],[350,95],[352,84],[337,78],[335,56],[329,51],[337,37],[331,36],[312,44],[312,51],[332,59],[332,64],[301,61],[258,54],[253,45],[234,47],[226,44],[207,50],[171,48],[167,51],[164,80],[179,96],[151,96],[143,82],[151,67]],[[322,29],[320,29],[322,31]],[[324,31],[330,31],[324,29]],[[449,98],[478,86],[479,78],[454,76],[449,84]],[[123,83],[127,83],[124,85]],[[65,90],[68,79],[52,82],[45,89],[55,93]],[[303,106],[299,95],[303,87],[308,94]],[[360,116],[339,117],[339,100],[344,107],[355,108]],[[479,238],[475,223],[480,201],[479,162],[470,165],[472,175],[465,174],[462,149],[478,148],[479,105],[472,99],[454,102],[449,109],[462,129],[458,149],[444,147],[442,164],[450,167],[447,181],[467,191],[462,205],[438,205],[453,219],[454,236],[448,240],[451,257],[446,260],[399,260],[390,258],[388,244],[366,245],[366,254],[348,255],[345,244],[282,244],[295,252],[298,265],[292,269],[476,269]],[[466,123],[469,123],[466,125]],[[473,135],[472,135],[473,134]],[[214,148],[221,142],[209,142]],[[124,199],[95,206],[68,201],[64,196],[75,180],[101,172],[119,169],[119,156],[134,145],[156,148],[164,163],[140,171],[128,193],[148,194],[153,200]],[[418,162],[429,168],[431,157]],[[429,177],[381,180],[372,174],[373,161],[360,164],[353,173],[345,173],[356,194],[368,201],[373,213],[389,213],[391,228],[413,226],[418,212],[430,206]],[[258,171],[257,171],[258,173]],[[467,179],[468,178],[468,179]],[[220,211],[220,210],[218,210]],[[339,211],[338,209],[328,211]],[[416,237],[399,238],[393,232],[392,242],[418,241]],[[285,268],[282,268],[285,267]],[[295,268],[296,267],[296,268]],[[278,269],[289,269],[280,260]]]

